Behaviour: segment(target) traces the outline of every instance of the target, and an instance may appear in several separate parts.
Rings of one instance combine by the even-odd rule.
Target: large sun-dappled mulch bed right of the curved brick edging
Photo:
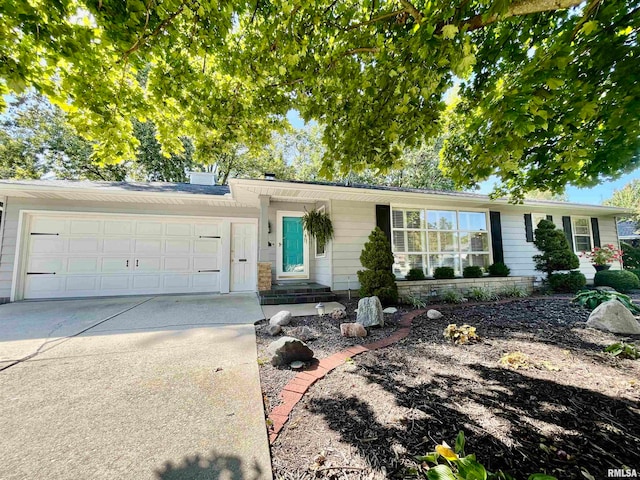
[[[272,447],[276,478],[415,478],[414,456],[459,430],[467,453],[516,478],[640,468],[640,361],[602,353],[620,336],[585,328],[588,311],[558,298],[441,311],[311,387]],[[449,344],[449,323],[482,341]],[[500,363],[512,352],[525,368]]]

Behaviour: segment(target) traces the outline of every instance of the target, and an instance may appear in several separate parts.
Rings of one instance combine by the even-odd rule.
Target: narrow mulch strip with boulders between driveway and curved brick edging
[[[364,338],[346,338],[340,334],[340,324],[356,321],[354,310],[358,308],[358,299],[340,296],[337,301],[346,307],[347,318],[334,320],[328,314],[322,318],[317,315],[294,317],[289,325],[283,327],[281,335],[291,335],[291,332],[297,327],[307,326],[311,328],[318,338],[309,340],[306,343],[313,350],[315,358],[322,359],[345,348],[372,343],[388,337],[398,328],[398,320],[403,313],[406,313],[406,309],[398,308],[397,313],[385,315],[385,326],[383,328],[370,328],[368,335]],[[282,309],[286,310],[286,306],[283,305]],[[265,411],[268,415],[273,407],[280,404],[280,392],[295,377],[297,372],[288,367],[274,367],[269,363],[267,347],[271,342],[277,340],[280,335],[276,337],[269,335],[266,331],[267,325],[268,322],[264,320],[256,324],[256,338],[258,342],[258,362],[260,363],[260,382],[262,384]]]

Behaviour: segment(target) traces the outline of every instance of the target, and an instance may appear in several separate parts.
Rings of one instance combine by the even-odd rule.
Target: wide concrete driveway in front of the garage
[[[0,306],[0,479],[271,479],[255,294]]]

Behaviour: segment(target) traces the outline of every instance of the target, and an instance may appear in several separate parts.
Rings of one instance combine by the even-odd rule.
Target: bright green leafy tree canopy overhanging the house
[[[49,96],[108,162],[134,155],[136,121],[155,123],[166,153],[188,135],[212,161],[267,144],[297,109],[324,126],[324,175],[393,168],[446,127],[443,167],[458,186],[495,175],[519,197],[638,165],[639,11],[635,0],[7,0],[0,89]]]

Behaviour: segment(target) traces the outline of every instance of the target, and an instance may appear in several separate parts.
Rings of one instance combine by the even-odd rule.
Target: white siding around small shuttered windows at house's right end
[[[559,229],[562,229],[563,216],[571,216],[571,212],[554,213],[553,215],[553,223]],[[600,243],[602,245],[612,243],[618,247],[615,218],[597,218],[600,229]],[[532,242],[527,242],[526,239],[524,213],[501,212],[500,220],[502,223],[504,263],[511,269],[511,275],[542,277],[542,273],[535,269],[533,263],[533,256],[537,255],[539,251]],[[535,225],[533,228],[535,229]],[[580,254],[580,252],[576,253]],[[620,268],[618,262],[611,266],[613,270],[619,270]],[[591,262],[586,258],[580,258],[580,271],[587,277],[588,281],[592,281],[596,273]]]

